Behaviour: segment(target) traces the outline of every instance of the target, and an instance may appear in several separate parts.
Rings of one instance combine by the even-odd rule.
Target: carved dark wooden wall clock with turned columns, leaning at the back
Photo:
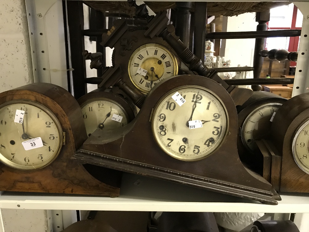
[[[181,70],[182,74],[199,73],[214,79],[231,94],[235,105],[242,105],[252,95],[251,90],[229,86],[215,72],[208,71],[201,60],[176,37],[175,28],[166,25],[167,18],[161,16],[156,16],[149,24],[146,24],[146,20],[139,20],[142,26],[136,26],[135,29],[132,23],[129,24],[130,20],[116,20],[111,30],[102,35],[101,45],[114,48],[112,59],[114,66],[120,67],[122,83],[132,91],[135,89],[146,94],[155,84],[177,72],[179,74]],[[164,35],[158,37],[160,33]],[[99,84],[99,87],[113,86],[107,79],[105,75],[105,83]],[[117,83],[117,86],[120,85]],[[141,104],[137,106],[140,108]]]

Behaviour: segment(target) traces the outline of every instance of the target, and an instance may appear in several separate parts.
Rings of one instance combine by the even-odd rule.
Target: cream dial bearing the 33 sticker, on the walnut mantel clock
[[[62,147],[59,121],[46,107],[32,101],[11,101],[0,106],[0,160],[16,169],[34,170],[49,165]],[[23,110],[23,122],[14,122]],[[26,150],[22,142],[40,137],[42,147]],[[37,143],[37,146],[40,142]],[[34,143],[28,146],[36,146]]]

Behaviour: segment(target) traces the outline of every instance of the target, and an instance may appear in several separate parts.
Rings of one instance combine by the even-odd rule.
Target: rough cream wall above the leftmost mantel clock
[[[0,92],[32,82],[25,0],[1,0]]]

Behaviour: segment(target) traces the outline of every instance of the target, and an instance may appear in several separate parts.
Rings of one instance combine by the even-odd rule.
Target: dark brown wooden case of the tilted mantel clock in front
[[[181,161],[164,153],[151,131],[151,116],[158,101],[172,89],[196,85],[217,94],[226,107],[228,134],[221,146],[199,161]],[[240,96],[241,97],[241,96]],[[237,112],[228,92],[217,82],[197,75],[164,79],[150,91],[136,118],[125,127],[104,134],[96,130],[72,157],[135,174],[170,180],[225,194],[277,204],[272,186],[243,167],[237,153]]]

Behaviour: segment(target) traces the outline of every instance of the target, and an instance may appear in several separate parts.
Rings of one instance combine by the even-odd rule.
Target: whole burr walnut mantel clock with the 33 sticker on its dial
[[[35,83],[3,92],[0,117],[1,191],[119,195],[70,159],[87,135],[65,89]]]

